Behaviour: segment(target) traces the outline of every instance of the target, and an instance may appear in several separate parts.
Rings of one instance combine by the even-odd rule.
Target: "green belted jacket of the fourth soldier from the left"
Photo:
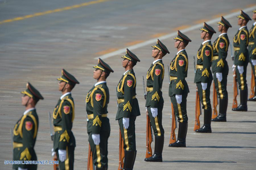
[[[118,83],[117,102],[116,120],[140,115],[139,103],[136,99],[136,77],[133,69],[128,70]]]

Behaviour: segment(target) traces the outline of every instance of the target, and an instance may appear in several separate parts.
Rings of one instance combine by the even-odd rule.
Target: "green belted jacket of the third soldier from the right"
[[[227,73],[228,63],[226,61],[229,47],[229,38],[227,34],[220,35],[213,43],[213,61],[212,72]]]

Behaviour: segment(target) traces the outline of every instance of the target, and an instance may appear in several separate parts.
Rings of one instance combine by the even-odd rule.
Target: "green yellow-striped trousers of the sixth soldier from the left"
[[[187,116],[187,96],[182,95],[182,101],[180,104],[177,103],[175,95],[171,96],[171,102],[173,104],[174,114],[178,118],[178,122],[180,123],[187,123],[188,116]]]

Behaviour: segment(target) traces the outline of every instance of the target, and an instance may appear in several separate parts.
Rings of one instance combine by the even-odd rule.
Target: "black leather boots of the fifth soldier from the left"
[[[155,136],[155,152],[149,157],[145,158],[146,162],[163,162],[162,152],[164,147],[164,136]]]

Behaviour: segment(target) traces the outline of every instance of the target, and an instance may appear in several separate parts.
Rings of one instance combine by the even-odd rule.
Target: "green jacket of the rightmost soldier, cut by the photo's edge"
[[[250,29],[248,51],[249,59],[256,59],[256,24]]]

